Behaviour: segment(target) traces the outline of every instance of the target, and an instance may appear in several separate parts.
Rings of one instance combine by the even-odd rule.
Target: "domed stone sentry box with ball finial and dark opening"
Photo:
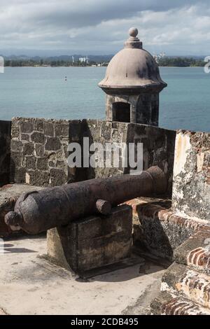
[[[106,92],[106,120],[158,126],[159,94],[167,83],[153,56],[142,48],[138,29],[132,27],[129,34],[99,83]]]

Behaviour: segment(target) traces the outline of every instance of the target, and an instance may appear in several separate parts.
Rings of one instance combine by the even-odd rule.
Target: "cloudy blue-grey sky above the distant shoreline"
[[[210,55],[209,0],[0,0],[5,55],[113,54],[132,26],[153,53]]]

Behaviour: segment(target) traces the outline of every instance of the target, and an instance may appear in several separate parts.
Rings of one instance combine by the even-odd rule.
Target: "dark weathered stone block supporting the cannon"
[[[132,211],[127,206],[113,209],[110,216],[92,216],[48,231],[48,257],[80,273],[127,258],[131,246]]]

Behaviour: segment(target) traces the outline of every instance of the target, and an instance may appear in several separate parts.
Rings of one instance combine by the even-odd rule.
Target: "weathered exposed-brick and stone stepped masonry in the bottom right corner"
[[[162,276],[153,314],[210,314],[210,226],[200,223],[178,246],[174,262]]]

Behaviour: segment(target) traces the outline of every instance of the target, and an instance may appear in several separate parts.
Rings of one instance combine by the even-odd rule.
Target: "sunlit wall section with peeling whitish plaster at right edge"
[[[210,218],[210,134],[176,135],[172,207],[188,216]]]

